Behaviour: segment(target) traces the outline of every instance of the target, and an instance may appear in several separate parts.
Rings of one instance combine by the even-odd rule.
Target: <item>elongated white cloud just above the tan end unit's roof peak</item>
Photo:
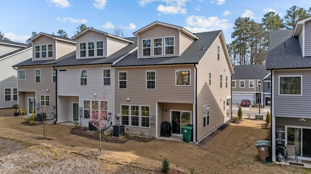
[[[186,18],[187,25],[208,30],[229,29],[232,25],[228,21],[227,19],[219,19],[216,16],[206,18],[205,16],[191,15]]]

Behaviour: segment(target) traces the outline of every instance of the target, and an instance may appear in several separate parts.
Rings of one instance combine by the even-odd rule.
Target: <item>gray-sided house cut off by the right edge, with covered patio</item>
[[[294,144],[298,160],[311,160],[311,17],[294,29],[271,31],[272,160],[278,145]],[[290,156],[294,158],[294,156]]]

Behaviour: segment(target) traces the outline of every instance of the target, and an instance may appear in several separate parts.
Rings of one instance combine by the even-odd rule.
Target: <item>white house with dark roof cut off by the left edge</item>
[[[12,66],[31,55],[31,45],[0,40],[0,108],[17,104],[17,71]]]

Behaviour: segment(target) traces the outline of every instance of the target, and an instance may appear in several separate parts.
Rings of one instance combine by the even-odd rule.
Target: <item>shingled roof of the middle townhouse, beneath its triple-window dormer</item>
[[[126,55],[128,52],[132,51],[137,47],[137,37],[126,38],[127,40],[134,41],[135,43],[130,43],[116,53],[110,55],[108,58],[84,58],[76,59],[76,51],[60,58],[55,67],[58,66],[76,66],[76,65],[94,65],[94,64],[112,64],[114,61]]]

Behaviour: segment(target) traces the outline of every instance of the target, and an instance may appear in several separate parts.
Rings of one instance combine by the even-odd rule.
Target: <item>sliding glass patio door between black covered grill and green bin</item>
[[[181,128],[191,123],[190,111],[171,111],[172,133],[181,135]]]

